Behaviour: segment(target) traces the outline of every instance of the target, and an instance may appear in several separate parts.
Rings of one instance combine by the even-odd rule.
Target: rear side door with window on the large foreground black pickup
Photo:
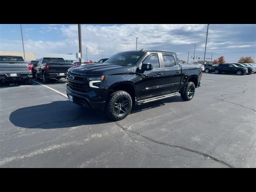
[[[173,54],[161,53],[163,72],[163,92],[176,92],[180,88],[181,68]]]

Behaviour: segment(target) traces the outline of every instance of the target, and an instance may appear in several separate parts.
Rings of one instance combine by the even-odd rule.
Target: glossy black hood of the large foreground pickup
[[[108,70],[119,70],[127,68],[127,66],[120,66],[115,64],[88,64],[82,66],[76,66],[68,69],[71,74],[83,75],[83,76],[100,76]]]

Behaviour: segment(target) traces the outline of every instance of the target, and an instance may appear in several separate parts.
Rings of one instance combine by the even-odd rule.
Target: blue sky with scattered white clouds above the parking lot
[[[23,24],[25,52],[75,54],[78,52],[78,26],[75,24]],[[83,24],[82,54],[88,50],[88,60],[109,58],[117,52],[166,50],[176,52],[187,61],[188,52],[204,57],[207,24]],[[256,60],[255,24],[210,24],[206,58],[224,56],[227,62],[237,62],[242,56]],[[100,42],[100,56],[99,56]],[[0,50],[22,52],[19,24],[0,24]],[[207,59],[210,60],[210,59]],[[197,60],[195,60],[197,61]],[[192,62],[192,59],[189,60]]]

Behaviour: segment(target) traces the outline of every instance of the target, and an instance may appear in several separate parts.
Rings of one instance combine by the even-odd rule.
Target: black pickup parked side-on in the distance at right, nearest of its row
[[[213,72],[215,74],[218,73],[231,73],[231,74],[237,74],[237,75],[243,75],[243,74],[248,74],[248,68],[246,67],[238,67],[235,64],[231,63],[220,63],[217,66],[212,66]]]

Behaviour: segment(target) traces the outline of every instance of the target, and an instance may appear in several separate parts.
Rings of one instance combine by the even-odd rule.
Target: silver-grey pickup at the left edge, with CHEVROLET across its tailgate
[[[29,62],[25,62],[21,56],[0,56],[0,81],[25,81],[32,84],[32,71]]]

